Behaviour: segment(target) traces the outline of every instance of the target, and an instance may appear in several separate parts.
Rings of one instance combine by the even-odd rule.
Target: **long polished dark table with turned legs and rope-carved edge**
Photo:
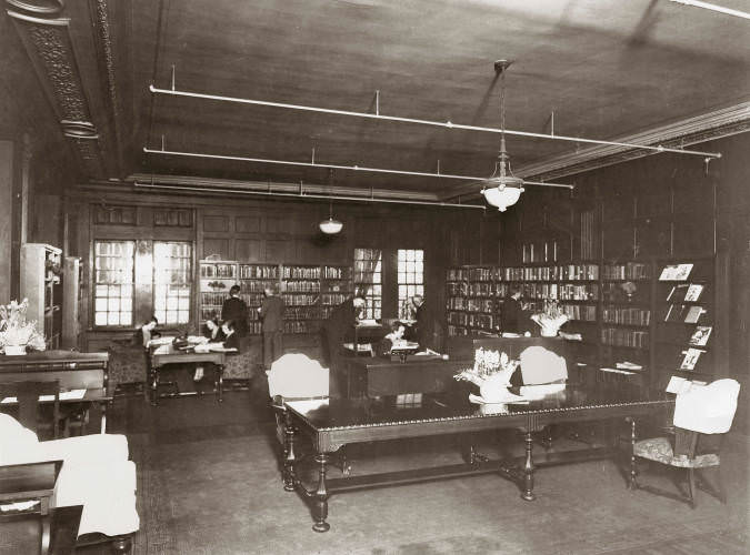
[[[636,420],[673,405],[673,400],[664,398],[661,392],[652,393],[627,384],[559,385],[557,389],[551,392],[548,386],[529,386],[522,392],[528,397],[539,398],[506,405],[472,404],[468,400],[468,390],[461,386],[443,394],[424,395],[419,405],[399,405],[396,397],[287,402],[284,490],[297,491],[311,503],[314,519],[312,529],[316,532],[326,532],[330,527],[327,522],[330,495],[366,487],[498,473],[519,485],[523,500],[533,501],[536,467],[611,457],[619,447],[617,441],[608,441],[598,447],[544,453],[534,460],[533,432],[550,424],[627,420],[632,450]],[[521,393],[518,389],[511,391]],[[470,438],[474,433],[501,428],[517,428],[523,433],[524,456],[490,462],[486,457],[474,456],[471,448],[463,464],[333,480],[327,477],[331,454],[344,445],[446,434]],[[300,436],[307,436],[316,451],[318,481],[311,488],[304,486],[298,474],[296,445]],[[631,473],[634,472],[632,461],[631,454]]]

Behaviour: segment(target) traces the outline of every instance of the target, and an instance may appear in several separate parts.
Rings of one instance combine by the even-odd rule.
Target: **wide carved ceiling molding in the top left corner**
[[[104,140],[97,132],[83,91],[70,38],[70,19],[38,17],[56,16],[62,9],[62,2],[6,1],[11,8],[7,10],[8,16],[84,173],[92,178],[104,176]],[[59,9],[52,10],[54,6]]]

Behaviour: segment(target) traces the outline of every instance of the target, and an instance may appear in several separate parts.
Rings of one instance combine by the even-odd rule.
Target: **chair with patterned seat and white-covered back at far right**
[[[688,503],[696,507],[696,487],[703,490],[727,503],[727,496],[719,471],[719,451],[723,435],[729,432],[740,384],[734,380],[718,380],[706,386],[693,386],[688,393],[677,396],[673,417],[673,433],[666,437],[653,437],[634,442],[632,445],[630,486]],[[651,485],[638,483],[638,458],[646,458],[674,468],[686,468],[688,491],[679,486],[672,493]],[[697,473],[714,467],[718,472],[718,491],[707,481],[697,480]]]

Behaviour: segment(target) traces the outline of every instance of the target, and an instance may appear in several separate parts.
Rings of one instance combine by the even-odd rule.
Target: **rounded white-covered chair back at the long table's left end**
[[[329,371],[316,360],[301,353],[288,353],[277,359],[268,372],[268,393],[289,398],[327,397]]]

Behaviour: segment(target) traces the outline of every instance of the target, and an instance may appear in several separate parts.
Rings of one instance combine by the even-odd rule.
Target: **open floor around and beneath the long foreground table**
[[[222,405],[120,397],[110,414],[138,464],[136,554],[748,553],[747,443],[726,450],[726,506],[702,493],[690,509],[630,492],[603,461],[539,471],[532,503],[496,475],[340,494],[331,531],[316,534],[307,506],[282,491],[262,392],[229,392]],[[490,437],[487,448],[498,438],[513,441]],[[353,457],[354,474],[459,460],[450,437],[370,445]],[[663,473],[642,481],[671,486]]]

